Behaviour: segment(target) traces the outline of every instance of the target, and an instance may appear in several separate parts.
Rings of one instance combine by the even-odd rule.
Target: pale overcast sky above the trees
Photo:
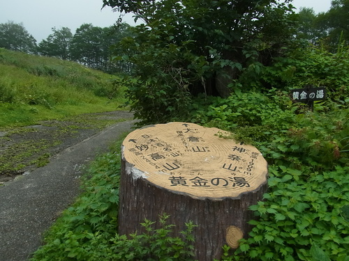
[[[198,0],[200,1],[200,0]],[[313,8],[315,13],[326,12],[331,0],[293,0],[296,8]],[[52,33],[52,27],[68,27],[74,34],[82,24],[112,26],[118,15],[102,0],[0,0],[0,24],[13,21],[23,23],[25,29],[40,42]],[[131,15],[124,22],[134,25]]]

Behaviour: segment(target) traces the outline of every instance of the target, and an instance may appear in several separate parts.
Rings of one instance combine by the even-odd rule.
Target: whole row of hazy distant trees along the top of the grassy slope
[[[75,61],[106,73],[129,72],[130,65],[113,63],[110,46],[129,35],[128,24],[101,28],[82,24],[74,35],[68,27],[52,28],[52,33],[37,44],[22,23],[0,24],[0,48],[27,54]]]

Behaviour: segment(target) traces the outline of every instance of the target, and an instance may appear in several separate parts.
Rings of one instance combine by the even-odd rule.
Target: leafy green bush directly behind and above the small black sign
[[[260,68],[260,72],[246,72],[239,84],[259,90],[325,86],[328,93],[325,104],[328,106],[334,102],[341,105],[346,100],[348,102],[349,48],[343,48],[336,54],[322,47],[292,49],[286,56],[275,58],[273,65]]]

